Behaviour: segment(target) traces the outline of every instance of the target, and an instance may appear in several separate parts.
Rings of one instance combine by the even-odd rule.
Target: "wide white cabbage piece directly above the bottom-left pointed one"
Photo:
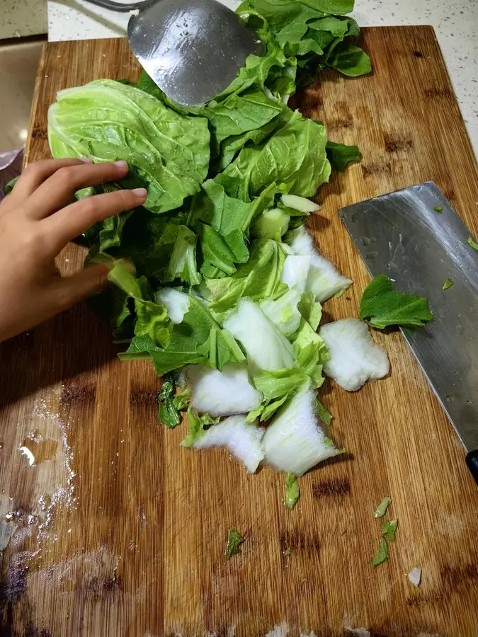
[[[240,363],[228,362],[222,372],[207,365],[188,365],[183,378],[190,390],[190,406],[213,418],[253,411],[261,405],[261,392]]]

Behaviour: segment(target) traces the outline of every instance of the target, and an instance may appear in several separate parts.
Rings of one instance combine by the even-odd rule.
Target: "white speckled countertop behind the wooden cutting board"
[[[222,1],[231,8],[239,5]],[[478,0],[355,0],[355,8],[352,15],[360,26],[433,25],[478,155]],[[82,0],[48,0],[50,40],[120,37],[128,19]]]

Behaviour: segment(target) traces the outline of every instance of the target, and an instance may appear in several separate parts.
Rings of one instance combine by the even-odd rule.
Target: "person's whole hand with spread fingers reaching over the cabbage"
[[[55,257],[96,222],[144,203],[144,188],[70,203],[76,190],[122,179],[127,170],[125,161],[89,159],[46,159],[25,168],[0,204],[0,342],[101,289],[108,265],[63,278]]]

